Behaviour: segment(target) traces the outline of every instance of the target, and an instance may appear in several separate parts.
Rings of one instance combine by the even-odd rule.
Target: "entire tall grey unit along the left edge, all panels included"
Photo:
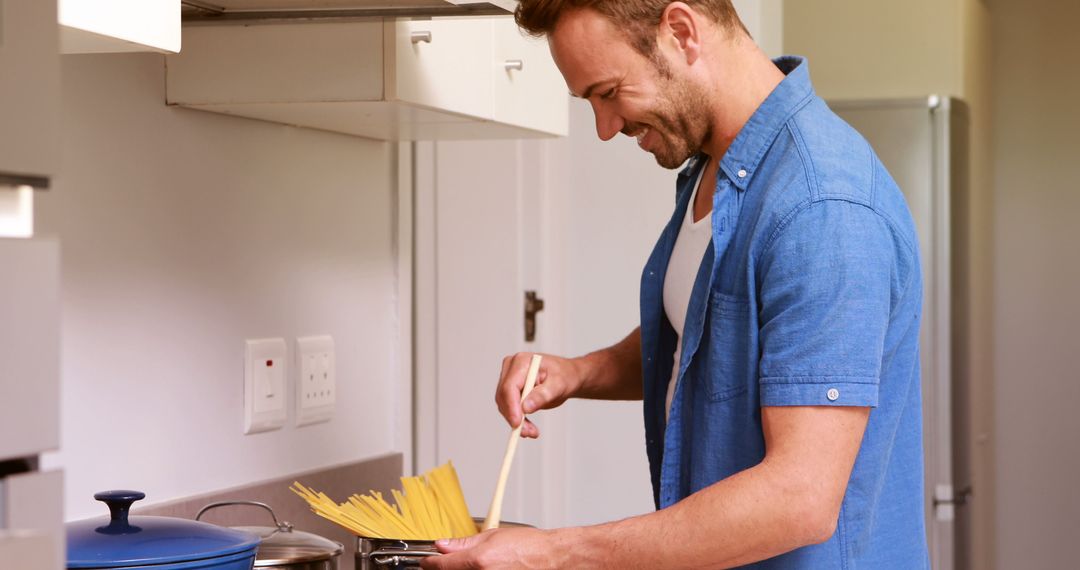
[[[59,246],[33,234],[58,160],[56,2],[0,0],[0,568],[64,568]]]

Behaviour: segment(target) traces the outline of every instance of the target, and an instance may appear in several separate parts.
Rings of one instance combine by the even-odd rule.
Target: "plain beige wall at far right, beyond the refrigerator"
[[[1075,568],[1080,537],[1080,4],[993,2],[998,567]]]

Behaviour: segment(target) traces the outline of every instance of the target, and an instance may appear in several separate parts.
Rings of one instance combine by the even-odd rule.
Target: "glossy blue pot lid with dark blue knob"
[[[69,522],[68,568],[153,566],[229,556],[255,551],[259,538],[249,532],[198,520],[129,516],[138,491],[105,491],[94,499],[109,505],[110,517]]]

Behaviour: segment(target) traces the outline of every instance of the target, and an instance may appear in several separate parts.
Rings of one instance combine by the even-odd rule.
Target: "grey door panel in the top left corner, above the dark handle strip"
[[[56,2],[0,0],[0,175],[49,177],[58,153]]]

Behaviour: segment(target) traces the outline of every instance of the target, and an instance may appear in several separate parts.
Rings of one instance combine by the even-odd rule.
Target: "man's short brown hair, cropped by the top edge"
[[[743,26],[731,0],[683,0],[694,10],[711,16],[728,30],[742,30]],[[566,10],[586,8],[608,17],[626,33],[631,45],[643,55],[651,56],[656,50],[654,29],[671,0],[521,0],[514,11],[517,26],[530,36],[548,36]]]

